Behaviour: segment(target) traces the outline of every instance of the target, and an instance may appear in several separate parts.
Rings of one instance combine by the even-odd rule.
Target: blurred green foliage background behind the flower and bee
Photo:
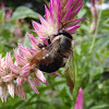
[[[44,3],[48,4],[49,1],[2,1],[5,7],[4,10],[0,8],[0,53],[4,57],[8,51],[13,56],[13,49],[19,43],[29,47],[26,32],[32,33],[32,20],[39,22],[37,13],[44,15]],[[0,109],[73,109],[78,87],[83,87],[84,90],[84,109],[109,109],[109,9],[99,10],[96,32],[90,34],[93,16],[87,2],[84,1],[76,16],[86,16],[77,29],[80,35],[73,36],[74,40],[80,41],[74,47],[76,82],[73,93],[70,93],[66,86],[63,69],[60,69],[58,72],[62,76],[46,74],[50,86],[38,86],[38,95],[25,83],[26,99],[22,100],[17,96],[13,99],[8,95],[7,102],[2,104],[0,100]],[[109,5],[108,0],[104,3]],[[89,50],[94,38],[94,47]]]

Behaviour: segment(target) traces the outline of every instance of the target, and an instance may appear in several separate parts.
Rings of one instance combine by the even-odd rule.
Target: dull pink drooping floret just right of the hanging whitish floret
[[[15,86],[15,95],[25,100],[25,88],[23,85]]]

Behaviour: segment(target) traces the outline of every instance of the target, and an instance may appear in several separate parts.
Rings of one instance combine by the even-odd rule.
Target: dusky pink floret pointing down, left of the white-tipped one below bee
[[[39,94],[36,85],[37,85],[37,80],[35,77],[32,77],[32,76],[28,76],[27,77],[27,82],[28,82],[28,85],[36,92],[36,94]],[[39,83],[38,83],[39,85]]]

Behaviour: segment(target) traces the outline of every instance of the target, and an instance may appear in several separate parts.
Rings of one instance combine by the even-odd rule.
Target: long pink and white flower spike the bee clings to
[[[50,0],[49,9],[45,5],[45,19],[39,15],[40,23],[33,21],[34,32],[37,33],[38,38],[27,33],[32,48],[26,48],[19,45],[14,50],[15,61],[11,58],[10,52],[4,58],[0,56],[0,97],[2,101],[7,101],[7,92],[14,97],[14,94],[25,99],[24,82],[28,83],[37,94],[39,93],[37,86],[39,81],[49,85],[41,71],[29,62],[39,51],[37,44],[43,41],[46,44],[46,37],[57,34],[59,29],[64,29],[73,34],[81,25],[77,25],[84,17],[75,20],[83,5],[83,0]],[[51,73],[60,76],[57,72]]]

